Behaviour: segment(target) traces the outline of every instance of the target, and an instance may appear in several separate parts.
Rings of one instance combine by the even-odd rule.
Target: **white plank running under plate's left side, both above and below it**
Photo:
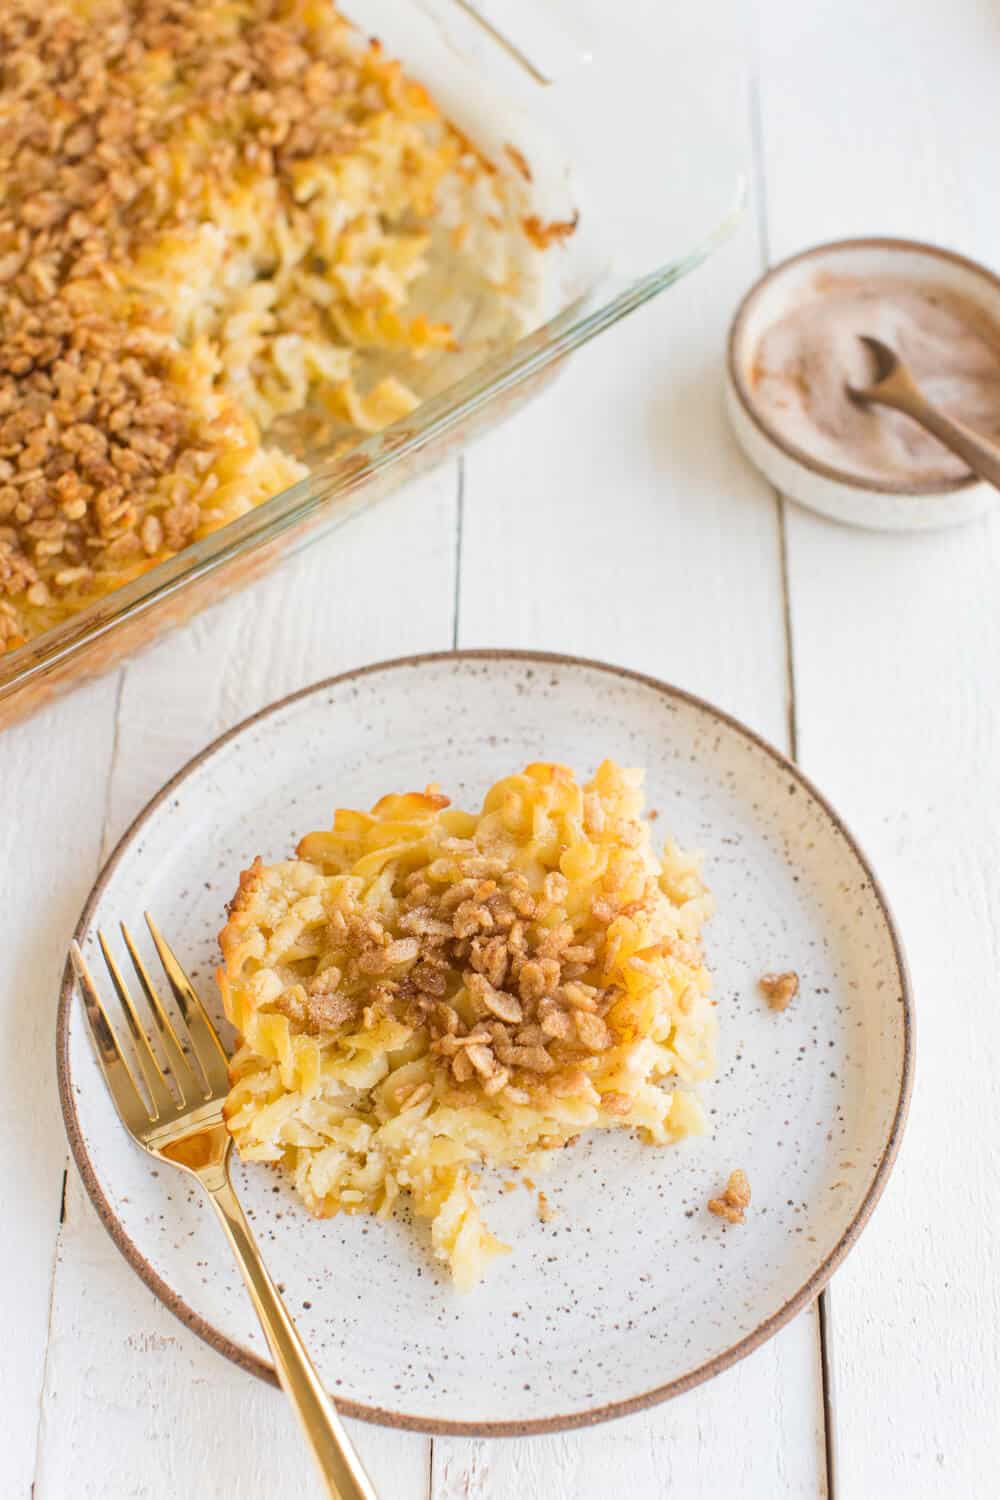
[[[450,645],[456,494],[453,464],[126,668],[109,840],[187,756],[244,714],[360,662]],[[78,712],[82,723],[82,705]],[[427,1438],[364,1424],[352,1431],[384,1494],[426,1500]],[[34,1500],[70,1492],[319,1494],[283,1398],[159,1305],[75,1174],[52,1290]]]

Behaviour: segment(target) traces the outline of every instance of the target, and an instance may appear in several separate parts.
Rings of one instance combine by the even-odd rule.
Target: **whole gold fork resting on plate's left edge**
[[[333,1500],[378,1500],[340,1424],[336,1407],[324,1390],[306,1353],[306,1346],[264,1266],[240,1200],[232,1191],[229,1182],[232,1137],[222,1118],[222,1106],[229,1090],[229,1072],[219,1035],[190,980],[148,912],[145,921],[183,1017],[198,1070],[184,1054],[163,1002],[127,927],[121,922],[121,936],[153,1018],[163,1064],[153,1050],[148,1030],[139,1020],[105,934],[99,932],[100,951],[121,1002],[121,1012],[145,1083],[147,1098],[144,1098],[108,1020],[87,962],[78,944],[73,944],[70,956],[79,980],[97,1062],[111,1090],[111,1098],[126,1130],[144,1150],[198,1178],[208,1194],[274,1356],[277,1378],[301,1422],[328,1494],[333,1496]]]

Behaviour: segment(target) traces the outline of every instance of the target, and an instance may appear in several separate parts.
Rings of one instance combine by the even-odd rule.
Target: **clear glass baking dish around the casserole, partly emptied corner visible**
[[[562,3],[340,0],[490,160],[520,162],[541,222],[574,231],[546,250],[535,303],[516,328],[495,316],[477,322],[475,309],[466,310],[465,352],[427,370],[411,416],[339,458],[303,450],[307,478],[0,656],[0,726],[259,578],[510,417],[567,354],[673,285],[729,234],[744,184],[726,129],[711,120],[721,94],[706,75],[718,51],[709,56],[705,42],[688,46],[673,33],[669,51],[651,45],[648,0],[615,8],[574,0],[559,12]]]

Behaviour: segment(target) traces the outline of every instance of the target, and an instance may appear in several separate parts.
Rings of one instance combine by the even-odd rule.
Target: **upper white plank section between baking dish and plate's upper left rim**
[[[189,756],[322,676],[451,645],[457,464],[391,496],[126,669],[115,837]]]

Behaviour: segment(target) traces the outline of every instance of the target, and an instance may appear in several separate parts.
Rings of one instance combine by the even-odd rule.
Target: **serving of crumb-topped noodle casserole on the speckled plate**
[[[640,777],[610,760],[583,784],[532,764],[478,813],[435,786],[339,808],[243,873],[220,934],[241,1155],[280,1161],[313,1214],[409,1194],[471,1286],[502,1250],[478,1162],[510,1192],[592,1128],[703,1130],[709,910],[697,860],[655,854]]]

